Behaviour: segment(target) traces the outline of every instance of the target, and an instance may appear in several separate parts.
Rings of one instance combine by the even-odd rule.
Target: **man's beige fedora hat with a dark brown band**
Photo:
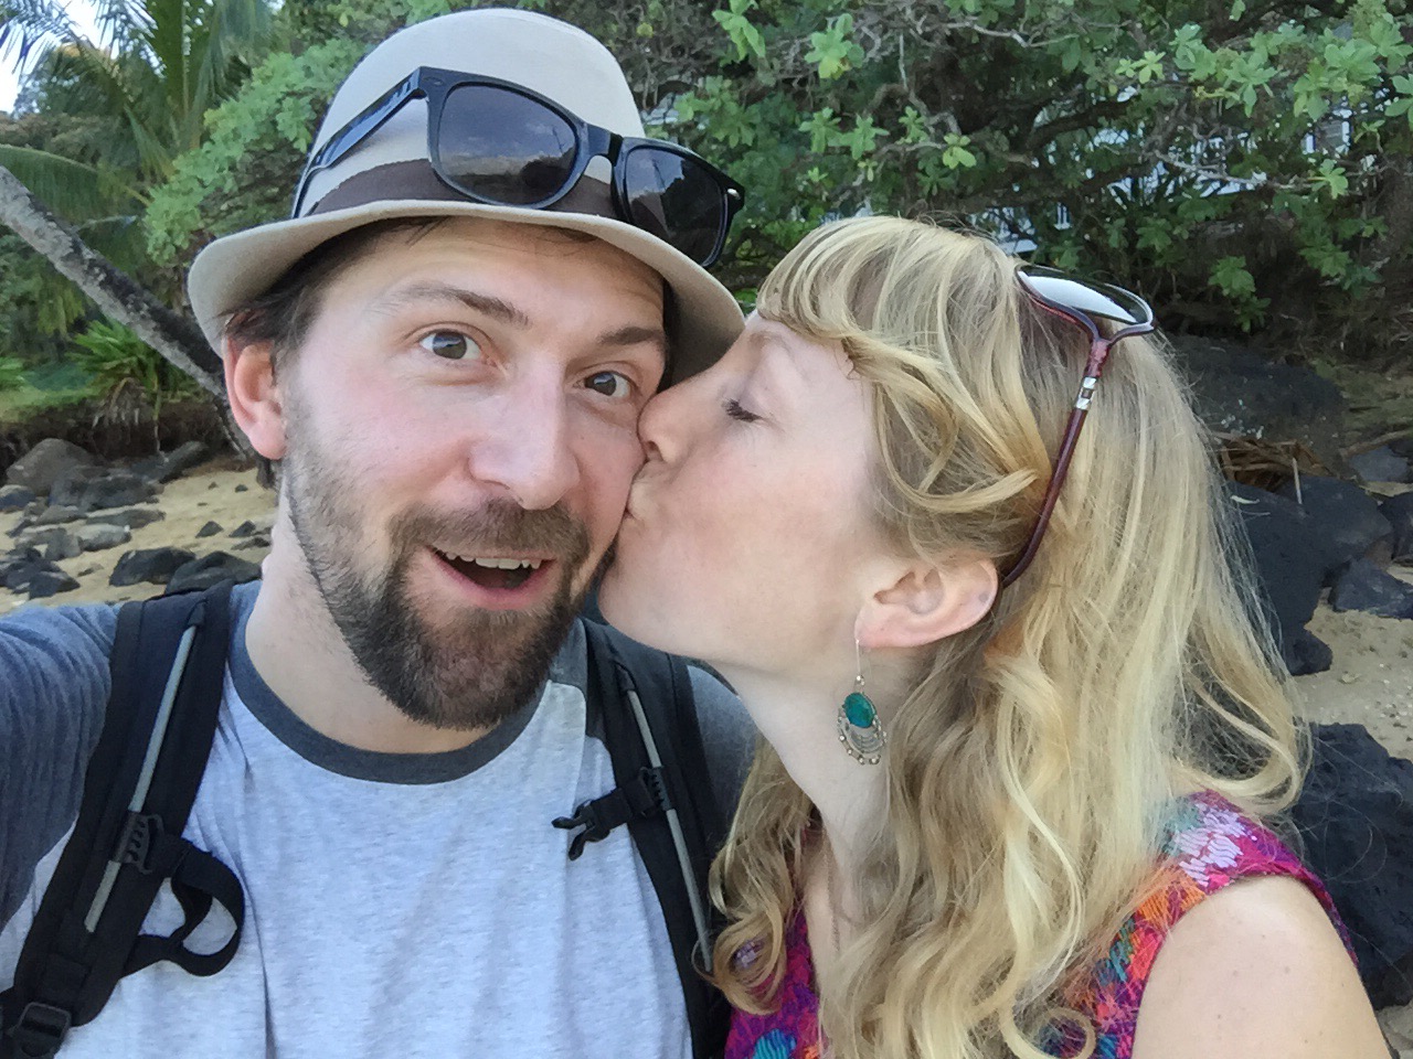
[[[369,52],[333,96],[311,155],[418,66],[500,78],[548,96],[591,124],[643,136],[633,93],[608,48],[548,16],[480,8],[411,25]],[[219,354],[230,311],[264,294],[321,243],[377,220],[490,217],[584,232],[657,271],[675,302],[671,376],[684,378],[735,340],[740,309],[705,268],[617,219],[608,169],[603,158],[593,160],[574,192],[550,209],[471,202],[432,172],[427,103],[413,99],[338,164],[314,175],[297,217],[225,236],[202,250],[187,281],[192,311]]]

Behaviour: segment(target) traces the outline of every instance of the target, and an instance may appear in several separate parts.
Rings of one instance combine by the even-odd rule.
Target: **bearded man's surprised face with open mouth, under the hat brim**
[[[331,617],[404,713],[479,729],[536,692],[617,530],[664,346],[656,273],[524,225],[393,233],[325,289],[267,455]]]

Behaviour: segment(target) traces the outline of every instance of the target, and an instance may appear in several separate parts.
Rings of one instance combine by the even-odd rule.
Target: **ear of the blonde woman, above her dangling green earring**
[[[996,563],[979,556],[894,565],[863,604],[855,635],[865,648],[935,644],[981,621],[996,602]]]

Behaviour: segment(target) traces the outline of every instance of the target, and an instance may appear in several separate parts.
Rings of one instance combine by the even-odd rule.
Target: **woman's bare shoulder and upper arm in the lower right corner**
[[[1159,950],[1133,1059],[1388,1059],[1354,962],[1314,894],[1289,877],[1208,897]]]

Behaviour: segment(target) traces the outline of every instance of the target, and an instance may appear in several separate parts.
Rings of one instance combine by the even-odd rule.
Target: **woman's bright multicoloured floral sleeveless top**
[[[1129,1059],[1139,1004],[1163,939],[1198,901],[1222,887],[1259,875],[1290,875],[1304,882],[1345,938],[1324,885],[1269,829],[1211,791],[1180,799],[1163,833],[1159,881],[1115,935],[1108,955],[1065,997],[1095,1031],[1095,1059]],[[1352,952],[1351,952],[1352,957]],[[739,953],[738,959],[750,959]],[[732,1014],[726,1059],[820,1059],[820,998],[804,916],[786,933],[786,974],[780,1008],[767,1015]],[[1057,1028],[1046,1051],[1068,1056],[1082,1035]]]

